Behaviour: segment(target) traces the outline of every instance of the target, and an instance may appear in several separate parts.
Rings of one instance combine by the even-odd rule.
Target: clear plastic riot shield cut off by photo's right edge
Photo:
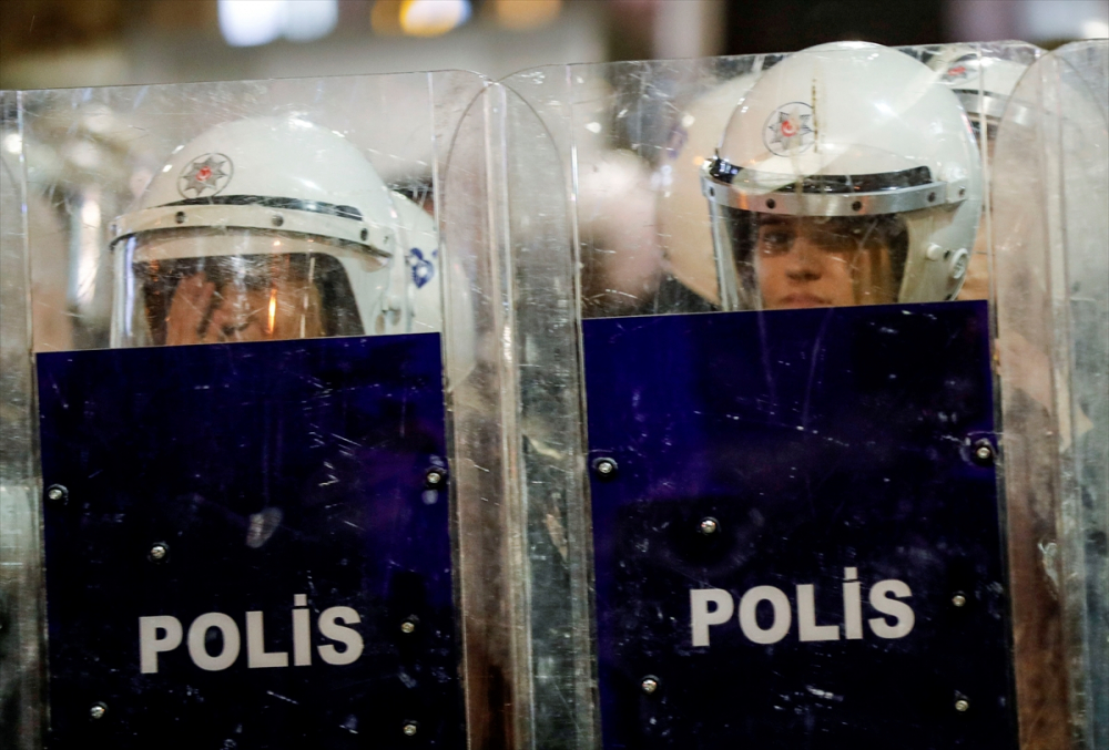
[[[994,162],[1017,698],[1035,747],[1109,743],[1109,47],[1021,79]]]

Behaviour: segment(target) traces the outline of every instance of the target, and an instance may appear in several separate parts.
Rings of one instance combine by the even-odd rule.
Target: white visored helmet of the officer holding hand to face
[[[112,232],[113,346],[440,327],[434,220],[297,116],[180,146]]]

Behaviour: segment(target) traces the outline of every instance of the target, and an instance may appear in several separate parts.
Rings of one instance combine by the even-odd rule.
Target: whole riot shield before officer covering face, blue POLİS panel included
[[[484,86],[3,95],[4,747],[490,747],[438,218]]]

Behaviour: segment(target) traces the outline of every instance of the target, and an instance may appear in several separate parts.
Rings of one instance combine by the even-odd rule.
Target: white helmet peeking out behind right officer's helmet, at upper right
[[[1028,48],[1032,53],[1039,51],[1030,44]],[[1001,122],[1009,96],[1029,64],[994,54],[988,48],[979,52],[967,44],[945,47],[928,60],[939,82],[958,96],[979,140],[983,124],[993,131]]]

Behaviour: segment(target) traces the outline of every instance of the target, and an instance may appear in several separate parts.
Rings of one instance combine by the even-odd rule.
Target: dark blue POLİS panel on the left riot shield
[[[39,356],[51,747],[462,747],[439,346]]]

